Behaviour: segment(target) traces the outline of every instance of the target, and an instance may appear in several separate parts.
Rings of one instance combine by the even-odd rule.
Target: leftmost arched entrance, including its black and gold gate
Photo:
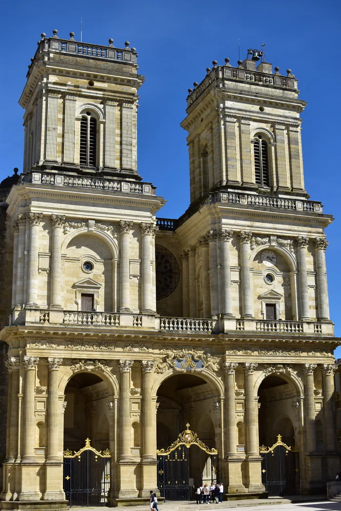
[[[73,376],[64,393],[66,499],[71,506],[104,506],[110,490],[109,389],[98,375],[86,372]]]

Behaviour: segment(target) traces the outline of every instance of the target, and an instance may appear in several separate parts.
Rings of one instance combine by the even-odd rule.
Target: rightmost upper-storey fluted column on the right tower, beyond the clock
[[[316,288],[317,288],[317,321],[329,320],[329,301],[327,287],[327,270],[325,251],[328,241],[324,238],[316,238],[315,245],[315,264],[316,264]]]

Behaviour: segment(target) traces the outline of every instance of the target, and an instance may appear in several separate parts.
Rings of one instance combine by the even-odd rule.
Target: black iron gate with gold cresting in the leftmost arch
[[[64,451],[64,492],[70,506],[105,506],[110,487],[111,453],[96,451],[89,438],[79,451]]]

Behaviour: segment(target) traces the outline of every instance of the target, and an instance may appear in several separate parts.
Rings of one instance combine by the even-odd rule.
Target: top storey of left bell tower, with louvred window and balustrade
[[[41,34],[20,98],[24,172],[137,173],[137,53]],[[76,122],[75,122],[76,120]]]

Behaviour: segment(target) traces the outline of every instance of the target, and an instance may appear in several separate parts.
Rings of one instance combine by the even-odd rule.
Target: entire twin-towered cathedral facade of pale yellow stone
[[[257,59],[213,61],[189,89],[191,204],[166,219],[137,169],[135,49],[42,34],[1,217],[3,509],[66,507],[84,452],[105,459],[109,506],[180,495],[162,477],[172,445],[197,449],[186,492],[218,477],[225,498],[270,492],[276,444],[295,493],[339,471],[332,217],[304,187],[298,80]]]

